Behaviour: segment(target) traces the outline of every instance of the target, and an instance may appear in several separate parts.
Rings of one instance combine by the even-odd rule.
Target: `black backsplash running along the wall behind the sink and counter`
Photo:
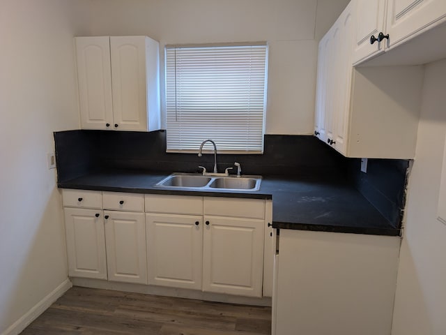
[[[61,131],[54,133],[58,183],[100,170],[197,172],[211,170],[213,154],[167,154],[165,131]],[[203,139],[205,140],[205,139]],[[218,143],[217,143],[218,149]],[[198,147],[197,147],[198,151]],[[312,135],[265,135],[263,154],[219,154],[218,170],[242,166],[243,174],[327,179],[358,191],[394,228],[401,227],[409,161],[369,159],[367,174],[359,158],[345,158]]]

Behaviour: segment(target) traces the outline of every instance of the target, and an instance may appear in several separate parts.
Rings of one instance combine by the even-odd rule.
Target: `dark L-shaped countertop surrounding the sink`
[[[59,188],[96,191],[199,195],[229,198],[272,199],[272,227],[397,236],[392,227],[353,186],[330,179],[263,177],[261,188],[249,191],[176,191],[154,185],[164,172],[95,172],[68,181]]]

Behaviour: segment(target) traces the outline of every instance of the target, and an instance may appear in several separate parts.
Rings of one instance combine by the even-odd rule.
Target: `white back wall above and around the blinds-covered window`
[[[266,133],[310,134],[318,40],[348,1],[96,0],[90,3],[89,35],[145,34],[162,50],[166,44],[267,40]],[[163,72],[161,77],[164,113]]]

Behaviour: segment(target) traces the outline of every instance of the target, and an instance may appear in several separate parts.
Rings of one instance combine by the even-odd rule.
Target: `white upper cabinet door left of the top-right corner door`
[[[384,32],[385,0],[355,0],[356,3],[356,37],[353,63],[381,54],[385,41],[370,43],[370,37],[376,38]],[[353,2],[353,1],[352,1]]]

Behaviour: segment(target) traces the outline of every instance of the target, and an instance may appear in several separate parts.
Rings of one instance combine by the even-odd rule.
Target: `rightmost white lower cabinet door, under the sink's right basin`
[[[263,220],[204,216],[203,291],[261,297]]]

